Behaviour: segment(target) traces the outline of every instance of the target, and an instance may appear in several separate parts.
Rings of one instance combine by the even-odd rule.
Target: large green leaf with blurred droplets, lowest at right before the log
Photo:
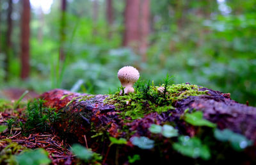
[[[202,145],[200,139],[189,138],[189,136],[180,136],[179,143],[173,144],[173,149],[182,155],[192,158],[201,157],[204,160],[211,158],[211,153],[206,145]]]

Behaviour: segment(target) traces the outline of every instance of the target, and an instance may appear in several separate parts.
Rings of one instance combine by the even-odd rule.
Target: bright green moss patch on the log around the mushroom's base
[[[113,104],[120,115],[126,120],[143,118],[145,114],[157,112],[159,114],[175,109],[174,102],[189,96],[207,95],[207,91],[200,91],[201,87],[194,84],[172,84],[154,86],[139,82],[135,84],[135,92],[119,95],[119,91],[106,98],[105,102]]]

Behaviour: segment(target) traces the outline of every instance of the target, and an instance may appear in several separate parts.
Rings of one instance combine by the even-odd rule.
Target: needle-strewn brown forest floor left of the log
[[[1,91],[7,100],[0,102],[0,125],[6,125],[6,122],[14,119],[11,130],[4,130],[0,133],[0,164],[15,161],[12,155],[17,155],[27,148],[36,149],[44,148],[49,154],[52,164],[75,164],[74,154],[70,151],[70,145],[64,143],[55,132],[48,130],[47,132],[29,130],[29,134],[24,132],[19,126],[19,122],[24,121],[25,103],[32,98],[38,97],[38,93],[29,91],[20,102],[17,109],[13,109],[13,105],[19,100],[22,93],[26,90],[12,88]],[[12,100],[12,101],[10,101]],[[11,150],[12,152],[8,152]]]

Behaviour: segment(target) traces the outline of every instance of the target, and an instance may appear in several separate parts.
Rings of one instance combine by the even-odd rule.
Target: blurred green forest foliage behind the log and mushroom
[[[111,93],[120,86],[118,69],[132,65],[140,70],[141,79],[154,80],[155,84],[163,83],[169,74],[175,77],[175,83],[193,83],[231,93],[237,102],[245,104],[248,100],[256,106],[256,0],[151,0],[146,59],[136,48],[123,44],[129,0],[111,1],[111,24],[106,18],[109,1],[69,0],[64,28],[61,0],[30,1],[31,70],[23,80],[22,0],[12,1],[12,48],[9,70],[4,70],[8,1],[0,1],[2,90],[27,88],[40,93],[52,88],[73,88],[85,93]],[[61,28],[65,40],[60,37]],[[60,60],[61,44],[64,61]]]

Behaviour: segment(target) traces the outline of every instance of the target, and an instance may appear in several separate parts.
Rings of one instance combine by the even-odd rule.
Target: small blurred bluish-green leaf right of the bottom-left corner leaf
[[[82,159],[84,161],[89,161],[92,159],[93,152],[91,150],[88,150],[84,146],[81,146],[79,144],[72,145],[72,153],[74,153],[79,159]]]

